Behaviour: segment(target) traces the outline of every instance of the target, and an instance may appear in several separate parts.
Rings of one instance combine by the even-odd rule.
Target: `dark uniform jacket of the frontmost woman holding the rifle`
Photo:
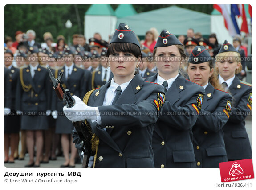
[[[110,81],[95,90],[88,101],[101,115],[101,125],[89,120],[100,141],[95,167],[154,167],[151,139],[162,109],[157,101],[160,93],[164,94],[162,86],[136,74],[115,105],[102,106],[108,87]],[[106,126],[110,126],[108,131]],[[80,140],[76,133],[73,136],[78,147]]]

